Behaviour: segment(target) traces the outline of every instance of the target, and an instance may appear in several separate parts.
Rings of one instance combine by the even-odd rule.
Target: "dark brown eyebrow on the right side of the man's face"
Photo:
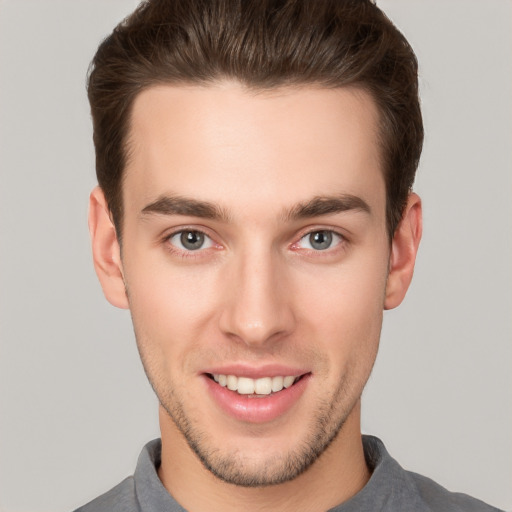
[[[285,213],[285,218],[287,220],[299,220],[346,211],[361,211],[371,214],[370,206],[362,198],[351,194],[341,194],[316,196],[309,201],[299,203]]]

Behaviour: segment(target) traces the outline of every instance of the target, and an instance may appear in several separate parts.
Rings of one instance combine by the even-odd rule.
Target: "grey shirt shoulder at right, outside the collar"
[[[406,474],[428,510],[452,512],[500,512],[483,501],[459,492],[451,492],[430,478],[406,471]]]

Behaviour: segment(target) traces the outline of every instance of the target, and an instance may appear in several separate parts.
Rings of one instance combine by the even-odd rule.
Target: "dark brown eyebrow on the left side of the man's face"
[[[156,201],[145,206],[141,211],[142,216],[150,214],[187,215],[225,222],[229,218],[229,215],[223,208],[213,203],[183,196],[163,196],[158,198]]]

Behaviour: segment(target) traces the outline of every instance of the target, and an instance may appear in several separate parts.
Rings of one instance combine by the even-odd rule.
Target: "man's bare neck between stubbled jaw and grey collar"
[[[360,403],[327,450],[297,478],[266,487],[225,483],[204,468],[167,413],[160,409],[165,488],[190,512],[328,510],[359,492],[370,478],[360,433]]]

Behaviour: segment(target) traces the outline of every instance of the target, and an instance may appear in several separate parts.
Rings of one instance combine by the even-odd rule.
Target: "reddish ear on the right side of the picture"
[[[405,297],[411,284],[422,230],[421,199],[411,193],[391,243],[384,309],[396,308]]]

